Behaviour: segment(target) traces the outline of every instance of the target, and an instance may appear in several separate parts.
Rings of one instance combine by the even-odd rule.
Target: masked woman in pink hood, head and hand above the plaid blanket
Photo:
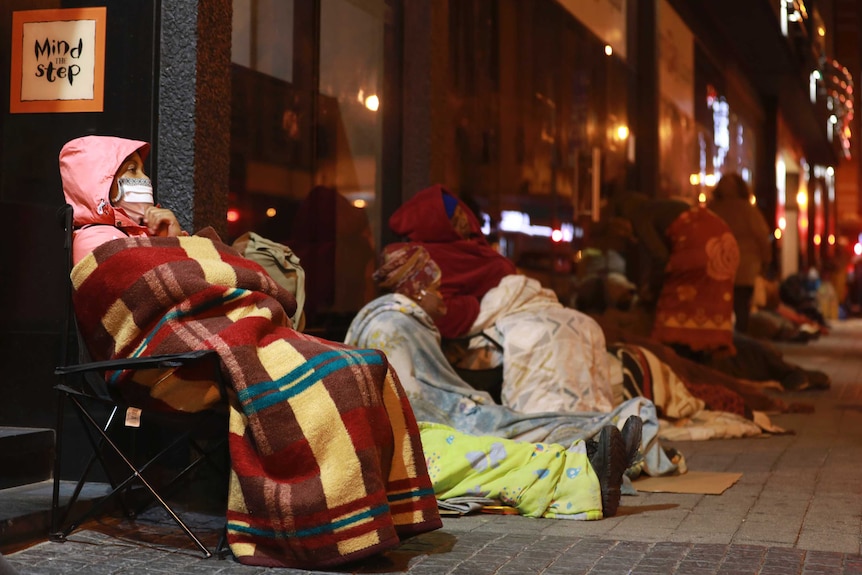
[[[84,136],[60,151],[63,193],[74,209],[72,260],[122,236],[188,235],[170,210],[155,204],[144,173],[150,145],[113,136]]]

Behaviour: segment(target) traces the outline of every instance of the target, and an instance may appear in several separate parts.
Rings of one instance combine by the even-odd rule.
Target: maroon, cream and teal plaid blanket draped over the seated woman
[[[254,262],[207,237],[123,238],[79,262],[72,280],[94,359],[217,350],[236,394],[227,520],[240,562],[331,567],[441,526],[386,356],[291,329],[295,303]],[[169,375],[108,377],[151,406],[211,403],[200,374]]]

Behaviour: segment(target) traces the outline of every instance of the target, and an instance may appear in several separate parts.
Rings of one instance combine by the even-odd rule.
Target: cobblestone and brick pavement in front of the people
[[[333,572],[862,575],[862,320],[836,323],[827,337],[781,349],[833,380],[827,391],[782,394],[815,407],[772,416],[794,434],[672,444],[691,470],[743,474],[722,495],[640,492],[623,498],[616,517],[591,522],[446,518],[439,531]],[[214,547],[222,519],[192,519]],[[158,513],[135,523],[91,523],[66,543],[40,542],[5,559],[21,575],[272,572],[202,559]]]

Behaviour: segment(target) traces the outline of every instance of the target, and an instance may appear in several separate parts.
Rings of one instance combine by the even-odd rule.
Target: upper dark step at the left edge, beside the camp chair
[[[54,430],[0,427],[0,489],[51,479]]]

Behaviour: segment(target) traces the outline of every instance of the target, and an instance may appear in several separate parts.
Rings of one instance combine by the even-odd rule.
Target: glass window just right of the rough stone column
[[[319,296],[312,329],[373,296],[384,7],[233,2],[228,239],[255,231],[297,252]]]

